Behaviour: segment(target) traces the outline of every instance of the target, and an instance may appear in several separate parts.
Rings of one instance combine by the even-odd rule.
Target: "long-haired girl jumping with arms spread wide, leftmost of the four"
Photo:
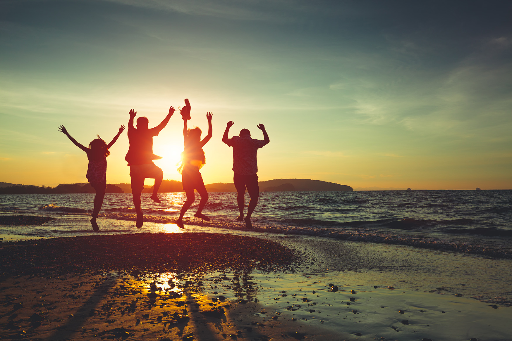
[[[87,158],[89,159],[89,165],[87,167],[86,178],[89,180],[92,188],[96,191],[96,195],[94,196],[94,210],[91,219],[91,225],[93,226],[94,231],[99,231],[98,223],[96,222],[96,218],[98,217],[99,210],[101,209],[101,205],[103,204],[103,198],[105,197],[105,189],[106,189],[106,157],[110,155],[110,147],[116,143],[117,139],[121,132],[123,132],[124,126],[121,125],[119,131],[115,135],[114,139],[109,144],[106,144],[99,135],[97,139],[94,139],[89,144],[89,148],[79,144],[75,139],[71,137],[68,133],[68,130],[61,125],[59,127],[59,131],[66,134],[66,136],[73,142],[75,146],[83,150],[87,153]]]

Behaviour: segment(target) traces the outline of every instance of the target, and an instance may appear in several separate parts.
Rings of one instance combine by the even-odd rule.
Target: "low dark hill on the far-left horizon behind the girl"
[[[106,193],[123,193],[117,186],[106,184]],[[57,187],[13,185],[0,187],[0,194],[53,194],[53,193],[96,193],[89,183],[60,184]]]

